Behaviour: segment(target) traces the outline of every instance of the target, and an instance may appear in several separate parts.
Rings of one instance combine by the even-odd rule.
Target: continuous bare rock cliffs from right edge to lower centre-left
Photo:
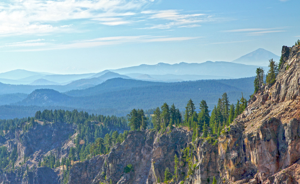
[[[300,52],[283,46],[283,64],[276,83],[255,94],[247,109],[219,137],[216,144],[174,128],[171,133],[132,132],[107,156],[74,165],[69,183],[159,183],[174,156],[180,173],[170,183],[298,183],[300,159]],[[184,149],[190,154],[185,156]],[[189,157],[188,161],[187,158]],[[82,164],[102,163],[92,175]],[[132,164],[134,171],[124,172]],[[92,168],[94,166],[91,166]],[[192,168],[191,168],[192,167]],[[102,174],[102,175],[101,175]],[[80,175],[80,179],[76,176]],[[86,177],[88,178],[86,178]],[[106,176],[106,177],[105,177]],[[79,180],[78,180],[79,179]]]

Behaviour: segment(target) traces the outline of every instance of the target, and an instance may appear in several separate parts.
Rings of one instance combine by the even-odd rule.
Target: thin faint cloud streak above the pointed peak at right
[[[283,29],[283,28],[248,28],[248,29],[233,29],[233,30],[226,30],[220,32],[245,32],[245,34],[249,36],[259,36],[268,33],[277,33],[277,32],[284,32],[284,30],[276,30],[276,29]]]

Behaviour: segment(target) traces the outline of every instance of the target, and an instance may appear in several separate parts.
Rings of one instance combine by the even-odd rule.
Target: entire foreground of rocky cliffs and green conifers
[[[223,93],[210,117],[204,100],[198,113],[189,100],[183,117],[163,104],[152,129],[140,109],[130,132],[125,118],[76,110],[2,120],[0,182],[297,184],[300,41],[283,46],[279,65],[248,103],[229,106]]]

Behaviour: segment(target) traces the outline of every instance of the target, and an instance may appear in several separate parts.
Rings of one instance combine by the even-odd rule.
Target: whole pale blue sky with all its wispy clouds
[[[0,73],[101,72],[140,64],[281,55],[299,0],[0,0]]]

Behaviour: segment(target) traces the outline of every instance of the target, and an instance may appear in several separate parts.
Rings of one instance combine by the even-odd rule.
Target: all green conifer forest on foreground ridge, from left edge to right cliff
[[[109,153],[112,146],[126,139],[128,130],[153,128],[156,131],[166,131],[167,127],[172,129],[184,126],[193,130],[193,140],[201,134],[203,138],[215,139],[220,135],[221,130],[242,112],[247,102],[242,97],[236,105],[230,105],[227,94],[223,93],[211,116],[205,100],[202,100],[199,106],[197,112],[195,104],[190,99],[184,114],[174,104],[169,107],[167,103],[164,103],[161,107],[151,110],[153,114],[142,109],[133,109],[126,117],[88,114],[88,112],[78,110],[37,111],[33,117],[1,119],[0,139],[5,140],[7,136],[14,137],[13,133],[20,130],[24,134],[38,126],[52,126],[51,124],[56,123],[71,124],[74,127],[74,133],[69,135],[69,141],[73,142],[74,147],[70,147],[67,157],[57,158],[55,154],[50,153],[44,156],[37,165],[50,168],[65,165],[64,177],[67,178],[71,163]],[[15,149],[16,147],[7,151],[6,147],[0,147],[0,168],[14,169],[17,159]],[[25,163],[28,158],[22,159]]]

